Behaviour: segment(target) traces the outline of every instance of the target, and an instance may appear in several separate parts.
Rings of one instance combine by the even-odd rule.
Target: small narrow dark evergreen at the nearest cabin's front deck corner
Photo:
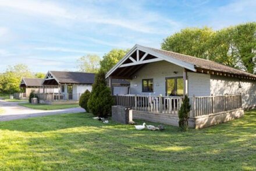
[[[179,110],[179,127],[182,131],[186,131],[189,128],[189,112],[191,105],[189,104],[189,98],[185,95],[183,104]]]

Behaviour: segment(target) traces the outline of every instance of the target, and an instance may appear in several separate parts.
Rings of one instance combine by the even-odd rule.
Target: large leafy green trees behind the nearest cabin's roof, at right
[[[208,27],[183,29],[165,38],[161,47],[256,72],[256,22],[217,31]]]

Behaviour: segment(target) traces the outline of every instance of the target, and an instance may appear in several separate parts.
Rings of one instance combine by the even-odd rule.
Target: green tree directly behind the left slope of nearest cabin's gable
[[[103,56],[103,59],[100,62],[101,70],[108,72],[120,59],[127,54],[129,49],[112,49]]]

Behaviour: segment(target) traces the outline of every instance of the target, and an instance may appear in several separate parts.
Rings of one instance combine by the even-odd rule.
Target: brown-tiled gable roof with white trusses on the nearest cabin
[[[143,46],[137,45],[137,44],[123,57],[123,59],[121,59],[114,67],[112,67],[111,70],[109,70],[109,72],[106,74],[106,77],[111,76],[111,74],[114,73],[115,70],[118,69],[119,67],[128,66],[129,63],[125,64],[125,65],[123,65],[123,63],[127,59],[130,59],[130,56],[132,54],[134,54],[134,52],[136,52],[137,50],[145,52],[146,54],[149,54],[152,56],[156,56],[157,58],[166,60],[170,63],[174,63],[175,65],[184,67],[185,69],[191,70],[193,72],[200,72],[200,73],[217,72],[218,74],[220,73],[221,75],[222,75],[222,73],[225,73],[225,74],[227,73],[227,74],[234,74],[236,76],[237,75],[243,76],[244,78],[247,78],[247,79],[256,79],[255,74],[247,73],[247,72],[244,72],[239,69],[234,69],[233,67],[222,65],[220,63],[217,63],[217,62],[214,62],[211,60],[196,58],[194,56],[183,55],[183,54],[179,54],[176,52],[165,51],[162,49],[143,47]],[[134,59],[131,59],[131,60],[134,60]],[[155,60],[155,61],[157,61],[157,60]],[[140,62],[140,61],[137,63],[139,63],[141,66],[144,65],[144,63]],[[136,68],[134,68],[133,70],[136,70]],[[119,70],[116,72],[120,73]],[[130,74],[130,76],[131,76],[131,74]]]

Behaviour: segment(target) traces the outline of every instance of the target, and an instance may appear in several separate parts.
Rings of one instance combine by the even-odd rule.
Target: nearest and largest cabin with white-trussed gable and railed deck
[[[161,49],[135,45],[106,77],[130,80],[130,94],[115,99],[116,105],[131,106],[135,119],[177,125],[184,95],[190,98],[190,126],[196,128],[256,107],[254,74]]]

